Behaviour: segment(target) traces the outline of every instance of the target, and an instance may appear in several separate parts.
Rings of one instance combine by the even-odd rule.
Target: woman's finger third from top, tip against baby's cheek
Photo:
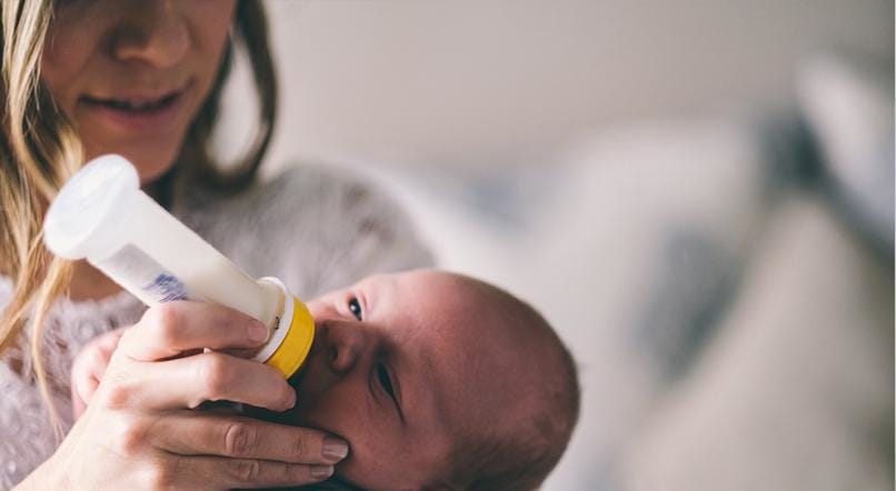
[[[153,424],[153,447],[179,455],[217,455],[332,465],[348,444],[318,430],[241,417],[170,413]]]

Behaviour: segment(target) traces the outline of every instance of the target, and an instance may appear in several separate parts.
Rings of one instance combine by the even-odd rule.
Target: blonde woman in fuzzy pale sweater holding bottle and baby
[[[260,3],[3,0],[0,21],[0,488],[326,479],[348,452],[339,439],[191,410],[211,399],[273,410],[295,401],[262,364],[185,355],[255,345],[251,319],[193,302],[143,312],[92,267],[50,257],[40,240],[59,187],[86,160],[115,152],[136,164],[147,192],[247,272],[278,275],[300,295],[429,262],[391,203],[362,183],[309,168],[256,181],[277,102]],[[235,49],[251,60],[260,121],[247,156],[223,172],[209,149]],[[73,354],[130,324],[139,335],[126,334],[128,355],[112,361],[127,377],[104,378],[69,431]]]

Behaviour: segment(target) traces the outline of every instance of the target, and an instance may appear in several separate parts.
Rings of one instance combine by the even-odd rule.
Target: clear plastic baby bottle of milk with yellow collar
[[[140,190],[123,157],[97,158],[62,187],[43,239],[54,254],[86,258],[147,305],[207,301],[258,319],[270,332],[252,358],[286,378],[311,349],[315,322],[305,303],[276,278],[250,278],[168,213]]]

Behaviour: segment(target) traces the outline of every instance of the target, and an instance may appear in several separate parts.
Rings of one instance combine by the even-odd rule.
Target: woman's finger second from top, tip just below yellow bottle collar
[[[232,401],[286,411],[296,404],[295,389],[277,369],[218,352],[122,363],[107,371],[99,391],[102,403],[112,409],[166,410]]]

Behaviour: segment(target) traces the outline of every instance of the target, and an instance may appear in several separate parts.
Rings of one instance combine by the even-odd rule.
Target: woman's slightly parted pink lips
[[[91,97],[79,99],[81,108],[104,129],[116,133],[153,134],[175,129],[191,94],[192,84],[160,96]]]

